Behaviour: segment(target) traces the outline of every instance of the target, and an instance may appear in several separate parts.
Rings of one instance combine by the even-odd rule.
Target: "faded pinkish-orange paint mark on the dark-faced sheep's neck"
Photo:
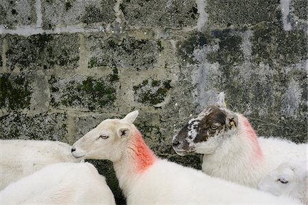
[[[248,122],[248,119],[246,119],[246,117],[242,117],[241,121],[243,122],[244,130],[246,131],[248,138],[250,138],[253,143],[253,149],[255,152],[253,158],[262,158],[263,153],[259,145],[255,130],[253,130],[251,123]]]

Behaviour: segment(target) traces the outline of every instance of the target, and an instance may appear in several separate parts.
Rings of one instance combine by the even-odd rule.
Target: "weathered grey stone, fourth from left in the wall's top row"
[[[209,27],[228,27],[230,25],[242,27],[263,21],[279,24],[281,16],[280,1],[209,0],[205,10],[209,15],[207,22]]]

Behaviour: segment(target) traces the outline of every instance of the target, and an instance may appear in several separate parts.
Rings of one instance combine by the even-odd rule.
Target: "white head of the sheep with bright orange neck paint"
[[[75,158],[101,159],[115,162],[121,157],[123,143],[131,135],[132,124],[138,110],[129,112],[123,119],[105,119],[97,128],[90,130],[72,146]]]

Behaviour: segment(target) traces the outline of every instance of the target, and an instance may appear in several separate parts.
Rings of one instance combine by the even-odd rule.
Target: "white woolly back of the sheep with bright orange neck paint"
[[[142,196],[142,197],[140,197]],[[277,204],[294,200],[274,197],[227,182],[166,160],[155,164],[131,182],[127,204]]]

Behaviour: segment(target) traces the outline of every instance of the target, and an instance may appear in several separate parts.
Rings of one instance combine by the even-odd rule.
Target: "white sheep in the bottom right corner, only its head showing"
[[[294,197],[307,204],[307,160],[283,162],[262,178],[258,189]]]

